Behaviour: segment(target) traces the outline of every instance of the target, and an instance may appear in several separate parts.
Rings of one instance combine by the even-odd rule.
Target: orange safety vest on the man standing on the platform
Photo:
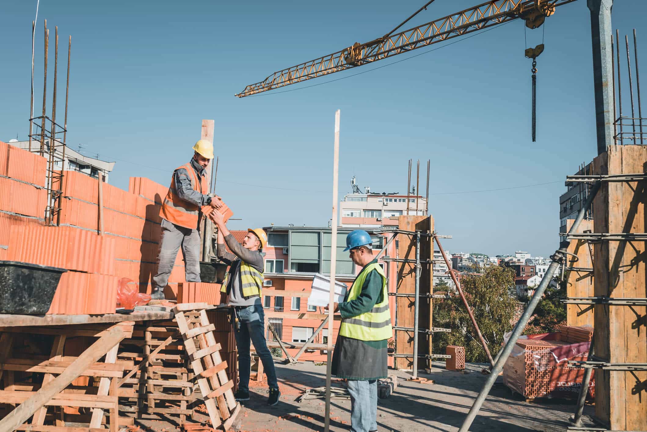
[[[191,166],[191,163],[182,165],[175,169],[184,168],[189,173],[189,178],[191,179],[191,186],[193,190],[199,191],[203,195],[207,193],[207,184],[206,177],[201,176],[201,179],[198,180],[198,176],[195,174],[195,169]],[[168,193],[164,202],[162,203],[162,208],[160,210],[160,217],[163,217],[167,221],[184,226],[185,228],[191,228],[195,230],[198,226],[198,215],[200,212],[200,206],[196,206],[191,202],[181,199],[177,195],[177,188],[175,185],[175,171],[173,171],[173,177],[171,177],[171,186],[168,188]]]

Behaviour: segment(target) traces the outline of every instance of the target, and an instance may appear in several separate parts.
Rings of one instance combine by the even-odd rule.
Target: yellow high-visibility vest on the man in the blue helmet
[[[378,263],[367,265],[357,275],[353,285],[351,285],[347,301],[355,300],[360,296],[366,276],[373,270],[377,270],[382,276],[382,301],[376,303],[369,312],[353,318],[342,319],[342,324],[339,328],[339,334],[342,336],[362,341],[381,341],[390,339],[393,336],[391,312],[389,312],[389,296],[386,290],[386,275],[384,275],[384,270]]]

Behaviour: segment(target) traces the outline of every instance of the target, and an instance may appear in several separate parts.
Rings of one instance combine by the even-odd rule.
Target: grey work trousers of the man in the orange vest
[[[162,219],[160,253],[157,255],[157,274],[153,277],[153,290],[164,290],[175,265],[177,252],[182,246],[184,273],[187,282],[200,282],[200,233]]]

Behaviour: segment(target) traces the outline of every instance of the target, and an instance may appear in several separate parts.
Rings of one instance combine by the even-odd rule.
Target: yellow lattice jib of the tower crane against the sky
[[[366,43],[356,42],[333,54],[278,70],[265,80],[248,85],[236,96],[244,98],[318,76],[366,65],[514,19],[523,19],[526,27],[537,28],[543,24],[545,17],[554,13],[557,6],[567,5],[576,0],[492,0],[409,30],[396,32],[433,1],[428,1],[417,12],[380,38]]]

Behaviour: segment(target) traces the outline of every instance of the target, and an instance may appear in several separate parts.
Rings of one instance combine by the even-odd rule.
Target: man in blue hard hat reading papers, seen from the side
[[[393,336],[386,276],[373,259],[373,240],[364,230],[346,236],[353,263],[362,266],[342,303],[332,373],[348,380],[351,431],[377,431],[377,380],[387,376],[387,341]]]

